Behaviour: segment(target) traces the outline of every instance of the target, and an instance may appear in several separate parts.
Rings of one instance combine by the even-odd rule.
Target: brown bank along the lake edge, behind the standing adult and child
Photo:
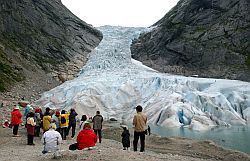
[[[104,137],[121,142],[122,128],[108,124],[104,129]],[[133,128],[129,128],[130,142],[133,141]],[[132,145],[132,144],[131,144]],[[200,159],[215,160],[249,160],[250,154],[242,151],[227,149],[211,140],[197,140],[187,137],[161,137],[160,135],[146,135],[145,149],[159,154],[182,155]],[[231,157],[230,157],[231,156]]]

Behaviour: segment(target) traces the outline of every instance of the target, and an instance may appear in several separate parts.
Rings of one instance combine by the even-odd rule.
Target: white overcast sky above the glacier
[[[77,17],[94,27],[149,27],[179,0],[62,0]]]

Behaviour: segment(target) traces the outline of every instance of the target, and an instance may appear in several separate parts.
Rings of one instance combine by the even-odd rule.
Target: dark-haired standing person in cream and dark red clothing
[[[30,112],[27,118],[27,136],[28,136],[28,145],[35,145],[33,140],[34,140],[34,136],[35,136],[35,126],[36,126],[36,122],[35,122],[35,114],[33,112]]]

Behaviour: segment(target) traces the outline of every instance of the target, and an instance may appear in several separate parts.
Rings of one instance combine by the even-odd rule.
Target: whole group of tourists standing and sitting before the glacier
[[[142,110],[142,107],[138,105],[133,118],[133,150],[137,151],[140,139],[140,152],[145,151],[145,127],[147,124],[147,116]],[[53,152],[57,155],[62,140],[69,138],[70,133],[70,137],[73,139],[78,126],[80,131],[76,137],[76,143],[69,145],[69,150],[92,149],[96,146],[97,141],[99,143],[102,142],[103,116],[100,114],[100,111],[96,111],[96,115],[93,118],[82,115],[79,124],[77,124],[77,116],[78,114],[73,108],[70,111],[59,111],[47,107],[43,112],[41,107],[33,109],[29,104],[26,105],[22,114],[19,105],[15,105],[11,112],[9,127],[13,128],[13,137],[19,137],[19,126],[24,125],[27,130],[27,145],[35,145],[34,137],[40,137],[40,134],[42,134],[41,142],[44,145],[42,153]],[[93,127],[91,127],[91,123]],[[127,150],[130,147],[130,133],[128,126],[123,125],[122,128],[122,145],[123,149]]]

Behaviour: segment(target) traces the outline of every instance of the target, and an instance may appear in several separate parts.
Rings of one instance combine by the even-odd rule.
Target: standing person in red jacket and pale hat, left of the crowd
[[[13,111],[11,112],[11,125],[13,126],[13,136],[19,136],[18,128],[19,125],[22,123],[22,114],[19,111],[19,107],[17,105],[14,106]]]

